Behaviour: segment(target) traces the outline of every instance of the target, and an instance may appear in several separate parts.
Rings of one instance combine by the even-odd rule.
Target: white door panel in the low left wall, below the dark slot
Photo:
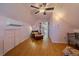
[[[14,31],[6,30],[4,39],[4,54],[14,48]]]

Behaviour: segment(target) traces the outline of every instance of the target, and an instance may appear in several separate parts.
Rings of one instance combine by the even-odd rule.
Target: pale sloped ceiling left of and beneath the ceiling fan
[[[42,14],[34,14],[34,8],[30,7],[29,4],[24,4],[24,3],[4,3],[0,4],[0,15],[6,16],[15,20],[21,20],[23,22],[26,22],[28,24],[35,24],[39,20],[46,20],[50,19],[50,13],[47,14],[46,16]],[[34,4],[32,4],[34,5]]]

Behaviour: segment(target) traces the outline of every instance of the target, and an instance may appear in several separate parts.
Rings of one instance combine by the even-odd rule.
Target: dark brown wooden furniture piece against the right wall
[[[68,45],[79,50],[79,33],[68,33]]]

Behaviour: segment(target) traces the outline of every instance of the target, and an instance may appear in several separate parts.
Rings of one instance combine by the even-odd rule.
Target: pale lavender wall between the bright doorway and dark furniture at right
[[[54,43],[67,43],[67,33],[72,32],[73,28],[67,23],[51,19],[49,27],[49,36]]]

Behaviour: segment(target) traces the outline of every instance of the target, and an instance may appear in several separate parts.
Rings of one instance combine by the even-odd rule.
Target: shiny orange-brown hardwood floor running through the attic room
[[[7,52],[5,56],[63,56],[65,47],[66,44],[30,38]]]

